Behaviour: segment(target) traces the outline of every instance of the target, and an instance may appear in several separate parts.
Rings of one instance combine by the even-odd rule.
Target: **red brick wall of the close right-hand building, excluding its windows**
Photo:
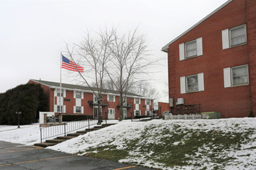
[[[249,2],[251,4],[247,6]],[[254,15],[247,17],[247,8],[254,12]],[[222,113],[222,117],[246,117],[249,114],[251,91],[254,91],[254,97],[256,93],[255,36],[250,38],[251,35],[255,35],[254,9],[254,0],[234,0],[169,46],[169,97],[174,98],[175,101],[183,97],[185,104],[202,104],[201,111],[218,111]],[[243,24],[247,24],[247,44],[222,49],[222,30]],[[202,37],[203,55],[180,61],[178,45],[199,37]],[[250,60],[248,50],[254,51],[249,52],[250,84],[224,88],[223,68],[248,64]],[[204,73],[205,90],[181,94],[180,77],[197,73]],[[250,87],[253,87],[253,90],[250,90]]]

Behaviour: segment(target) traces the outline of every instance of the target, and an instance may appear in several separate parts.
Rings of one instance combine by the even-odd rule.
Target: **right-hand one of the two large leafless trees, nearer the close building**
[[[145,36],[137,35],[136,29],[128,36],[119,36],[114,32],[114,40],[109,44],[112,65],[109,67],[111,70],[106,72],[119,91],[120,121],[123,120],[123,104],[130,87],[138,80],[142,80],[147,68],[156,63],[156,60],[150,59],[147,48]]]

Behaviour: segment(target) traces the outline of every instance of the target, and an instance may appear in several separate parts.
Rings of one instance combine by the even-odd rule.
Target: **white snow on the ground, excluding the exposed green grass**
[[[112,122],[108,122],[112,123]],[[64,141],[61,144],[55,145],[53,147],[48,147],[57,151],[64,151],[71,154],[80,154],[85,155],[88,148],[95,148],[97,146],[104,145],[115,145],[116,149],[123,150],[126,149],[126,141],[134,140],[141,138],[141,134],[144,132],[145,128],[158,127],[150,131],[149,138],[144,142],[145,145],[154,144],[155,142],[160,142],[162,137],[157,135],[161,131],[161,127],[166,128],[170,127],[173,131],[173,128],[178,128],[182,131],[188,131],[188,129],[200,129],[200,131],[223,131],[224,133],[236,132],[236,133],[246,133],[248,129],[252,129],[254,134],[250,138],[253,140],[249,143],[244,143],[241,146],[240,150],[230,149],[229,151],[223,151],[223,155],[228,155],[234,158],[235,164],[224,165],[225,169],[256,169],[256,118],[230,118],[230,119],[218,119],[218,120],[154,120],[147,122],[138,122],[138,121],[116,121],[116,125],[103,128],[99,131],[92,131],[90,133],[80,135],[78,138],[73,138],[68,141]],[[168,134],[166,134],[168,137]],[[189,138],[186,136],[185,138]],[[39,124],[32,125],[23,125],[21,128],[17,126],[0,126],[0,140],[9,141],[13,143],[20,143],[24,145],[33,145],[34,143],[40,142],[40,128]],[[182,139],[184,140],[184,139]],[[175,141],[173,145],[179,145],[183,141]],[[203,148],[199,148],[199,151],[195,153],[200,155],[200,149],[207,151],[208,146],[206,145]],[[210,150],[209,150],[210,151]],[[135,155],[140,154],[137,151],[130,153],[129,158],[119,160],[119,162],[138,162],[140,165],[147,165],[152,168],[163,168],[160,163],[156,164],[155,162],[150,162],[150,160],[144,159],[147,155],[152,155],[154,153],[147,153],[140,158],[135,158]],[[189,155],[188,155],[189,157]],[[202,160],[192,160],[192,162],[197,162],[198,164],[203,165],[202,167],[210,167],[210,162],[206,162],[209,158],[202,157]],[[139,162],[140,161],[140,162]],[[205,164],[205,165],[204,165]],[[175,167],[180,169],[181,167]],[[184,169],[195,168],[193,166],[184,166]],[[211,169],[211,168],[209,168]]]

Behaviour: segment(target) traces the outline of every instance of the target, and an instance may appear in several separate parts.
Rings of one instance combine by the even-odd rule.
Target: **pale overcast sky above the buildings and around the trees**
[[[225,2],[0,0],[0,93],[29,79],[59,82],[60,52],[65,42],[78,43],[85,31],[112,26],[117,26],[119,32],[138,28],[147,35],[151,54],[163,59],[151,75],[152,86],[167,92],[167,53],[161,48]],[[72,83],[65,75],[63,82]],[[167,102],[168,94],[161,100]]]

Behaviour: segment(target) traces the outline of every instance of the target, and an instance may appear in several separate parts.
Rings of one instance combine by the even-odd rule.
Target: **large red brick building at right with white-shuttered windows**
[[[171,109],[201,104],[222,117],[256,114],[256,1],[230,0],[162,51],[168,53]]]

